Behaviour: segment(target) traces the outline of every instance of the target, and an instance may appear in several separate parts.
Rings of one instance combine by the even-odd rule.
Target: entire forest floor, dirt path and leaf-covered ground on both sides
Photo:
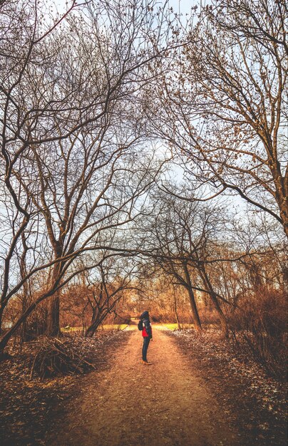
[[[98,364],[86,375],[41,381],[24,357],[2,362],[1,445],[286,445],[284,385],[208,332],[155,326],[150,365],[141,341],[136,326],[75,338]]]

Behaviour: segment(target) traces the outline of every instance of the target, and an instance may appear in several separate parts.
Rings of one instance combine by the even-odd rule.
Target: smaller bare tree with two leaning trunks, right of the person
[[[201,329],[201,321],[195,292],[200,291],[210,296],[227,333],[227,321],[219,303],[219,299],[226,299],[213,289],[205,268],[213,258],[214,245],[223,230],[224,219],[219,217],[222,211],[207,209],[197,202],[174,199],[163,193],[158,195],[158,205],[155,204],[154,209],[155,220],[150,222],[152,234],[149,232],[153,259],[166,274],[174,277],[175,284],[187,290],[197,331]]]

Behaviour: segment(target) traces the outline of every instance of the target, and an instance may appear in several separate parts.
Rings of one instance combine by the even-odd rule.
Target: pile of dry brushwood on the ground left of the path
[[[42,338],[31,368],[33,375],[51,378],[58,375],[84,373],[93,367],[84,358],[78,356],[67,341],[56,338]]]

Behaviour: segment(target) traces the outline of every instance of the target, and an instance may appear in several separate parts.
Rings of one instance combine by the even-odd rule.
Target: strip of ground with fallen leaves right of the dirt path
[[[269,377],[247,352],[235,351],[219,331],[199,335],[181,330],[171,336],[217,396],[223,418],[232,414],[232,423],[247,439],[245,444],[287,444],[286,383]]]

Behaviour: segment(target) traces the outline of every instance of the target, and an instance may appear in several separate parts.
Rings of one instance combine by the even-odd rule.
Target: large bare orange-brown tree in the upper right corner
[[[286,21],[284,1],[212,1],[169,59],[153,125],[192,197],[240,195],[288,234]]]

